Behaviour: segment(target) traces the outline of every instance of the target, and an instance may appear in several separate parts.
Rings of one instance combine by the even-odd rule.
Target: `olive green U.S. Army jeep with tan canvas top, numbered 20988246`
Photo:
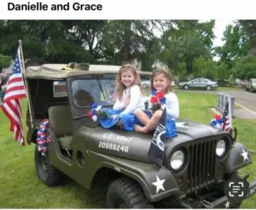
[[[148,149],[153,133],[104,129],[88,116],[90,105],[113,106],[113,88],[120,66],[41,65],[26,68],[30,111],[27,143],[35,146],[38,178],[48,186],[66,175],[90,189],[108,184],[110,208],[239,207],[224,193],[237,170],[251,163],[236,138],[210,126],[177,121],[177,137],[165,142],[165,160],[158,167]],[[150,72],[140,72],[147,81]],[[38,150],[38,129],[49,119],[47,153]],[[247,177],[244,178],[244,180]],[[246,195],[255,193],[255,181]]]

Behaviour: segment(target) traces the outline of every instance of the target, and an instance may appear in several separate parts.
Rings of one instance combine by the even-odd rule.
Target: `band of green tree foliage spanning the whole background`
[[[153,71],[160,61],[180,80],[253,76],[254,71],[238,73],[237,66],[256,54],[255,20],[227,26],[221,47],[212,46],[214,25],[215,20],[0,20],[0,52],[14,57],[21,39],[25,59],[49,63],[138,60],[143,71]]]

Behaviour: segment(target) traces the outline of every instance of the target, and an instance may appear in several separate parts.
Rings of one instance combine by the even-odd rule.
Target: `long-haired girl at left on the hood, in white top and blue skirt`
[[[137,109],[143,109],[143,88],[140,76],[132,65],[123,65],[116,77],[113,110],[104,109],[110,117],[99,120],[103,128],[112,128],[117,124],[126,131],[134,130],[134,114]]]

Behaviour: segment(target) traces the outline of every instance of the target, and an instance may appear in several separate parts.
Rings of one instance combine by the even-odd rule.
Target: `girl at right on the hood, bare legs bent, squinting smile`
[[[143,127],[135,125],[135,131],[139,133],[148,133],[148,131],[154,129],[157,123],[160,121],[163,110],[166,108],[166,115],[172,119],[176,119],[179,116],[179,105],[176,94],[173,93],[172,89],[172,76],[170,72],[166,69],[158,69],[153,72],[151,77],[151,87],[152,93],[163,92],[164,97],[159,101],[160,110],[154,111],[151,118],[142,111],[137,109],[134,114],[137,116],[138,120],[143,123]],[[152,96],[151,96],[152,97]],[[148,108],[152,108],[153,105],[149,101]]]

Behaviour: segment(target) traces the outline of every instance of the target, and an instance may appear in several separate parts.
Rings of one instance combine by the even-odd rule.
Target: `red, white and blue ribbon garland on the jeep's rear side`
[[[38,129],[37,133],[37,145],[38,151],[41,151],[42,156],[45,156],[47,153],[47,145],[51,141],[49,133],[46,132],[49,126],[49,120],[44,119]]]

